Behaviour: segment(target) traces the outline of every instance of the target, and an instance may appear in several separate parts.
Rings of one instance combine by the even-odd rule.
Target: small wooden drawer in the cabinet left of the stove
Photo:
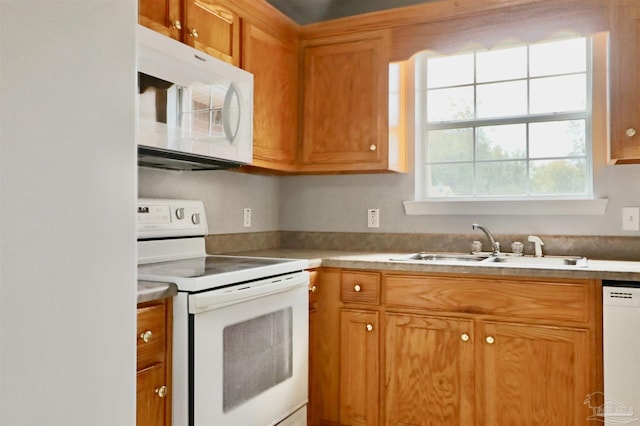
[[[164,303],[138,308],[137,361],[138,370],[158,362],[165,357],[167,308]]]

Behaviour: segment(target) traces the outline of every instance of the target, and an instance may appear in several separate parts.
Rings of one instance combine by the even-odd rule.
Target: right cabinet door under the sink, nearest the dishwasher
[[[487,425],[584,425],[589,332],[486,322],[482,327]]]

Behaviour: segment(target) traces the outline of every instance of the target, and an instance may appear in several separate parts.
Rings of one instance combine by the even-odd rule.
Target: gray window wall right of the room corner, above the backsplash
[[[609,199],[604,215],[407,216],[402,202],[413,199],[409,174],[285,177],[280,218],[290,231],[466,234],[479,222],[497,234],[640,235],[622,231],[622,207],[640,205],[640,166],[606,167],[598,186],[598,196]],[[366,227],[367,208],[380,209],[379,229]]]

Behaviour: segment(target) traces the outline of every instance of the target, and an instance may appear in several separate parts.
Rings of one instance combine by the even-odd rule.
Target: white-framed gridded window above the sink
[[[417,199],[591,198],[591,39],[416,63]]]

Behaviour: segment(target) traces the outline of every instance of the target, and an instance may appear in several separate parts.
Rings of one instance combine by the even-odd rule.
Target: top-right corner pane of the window
[[[577,38],[530,47],[530,75],[585,72],[587,69],[586,39]]]

